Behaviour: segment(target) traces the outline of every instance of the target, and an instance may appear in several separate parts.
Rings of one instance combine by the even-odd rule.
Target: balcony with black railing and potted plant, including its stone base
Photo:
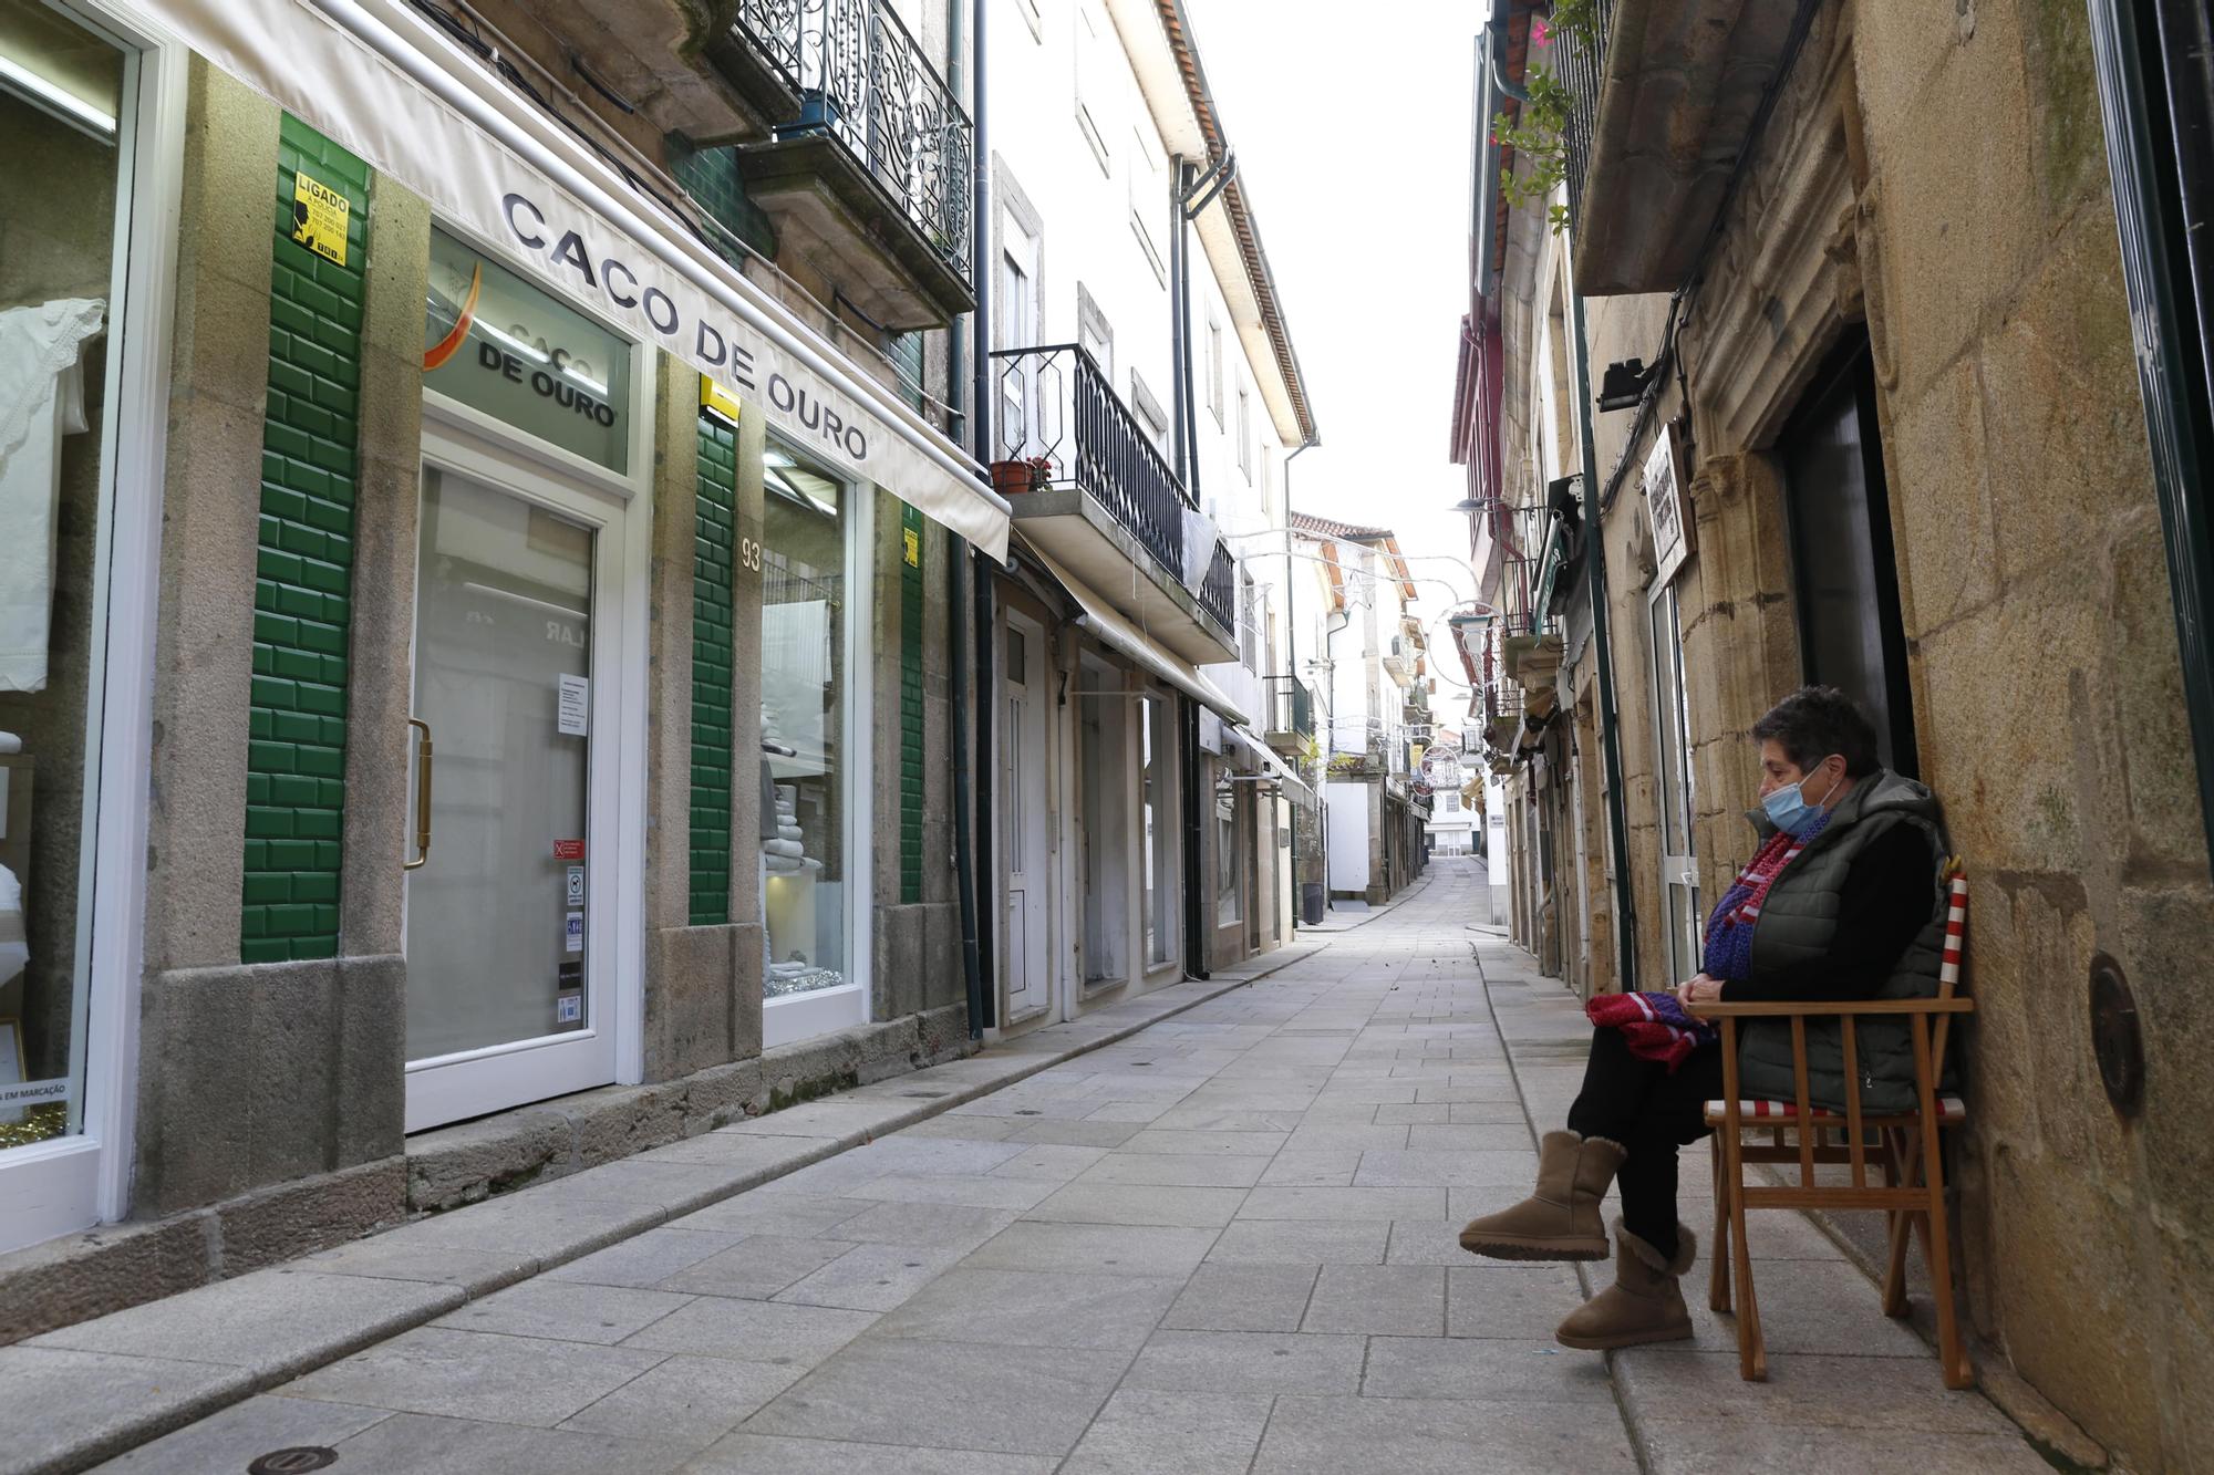
[[[992,483],[1025,536],[1193,664],[1238,660],[1238,560],[1220,538],[1196,545],[1191,496],[1107,372],[1076,343],[992,361]],[[1147,580],[1129,580],[1131,560]]]

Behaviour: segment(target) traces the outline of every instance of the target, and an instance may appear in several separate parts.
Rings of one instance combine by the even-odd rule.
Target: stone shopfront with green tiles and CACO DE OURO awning
[[[221,9],[35,16],[0,95],[9,328],[93,326],[0,1340],[972,1050],[959,11],[875,7],[894,159],[784,49],[859,33]]]

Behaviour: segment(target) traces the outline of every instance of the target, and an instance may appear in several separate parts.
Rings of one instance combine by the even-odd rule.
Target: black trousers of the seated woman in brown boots
[[[1660,1061],[1630,1054],[1621,1030],[1592,1032],[1568,1130],[1630,1149],[1614,1174],[1623,1225],[1663,1256],[1676,1254],[1676,1149],[1707,1136],[1707,1103],[1720,1094],[1720,1043],[1700,1045],[1669,1074]]]

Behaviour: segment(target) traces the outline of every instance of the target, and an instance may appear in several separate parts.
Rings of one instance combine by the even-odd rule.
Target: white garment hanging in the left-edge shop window
[[[62,436],[86,427],[77,354],[104,312],[86,297],[0,312],[0,691],[46,689]]]

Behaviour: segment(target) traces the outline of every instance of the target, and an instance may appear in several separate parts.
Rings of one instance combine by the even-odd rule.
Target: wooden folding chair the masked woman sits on
[[[1906,1316],[1906,1238],[1922,1240],[1937,1300],[1937,1358],[1948,1389],[1975,1382],[1953,1316],[1953,1247],[1946,1227],[1944,1158],[1939,1127],[1968,1121],[1959,1096],[1939,1096],[1946,1036],[1955,1014],[1975,1010],[1957,997],[1962,941],[1968,919],[1968,877],[1948,873],[1944,968],[1935,999],[1871,999],[1864,1003],[1703,1003],[1694,1014],[1722,1025],[1722,1101],[1707,1103],[1714,1127],[1714,1278],[1707,1304],[1729,1311],[1731,1285],[1738,1298],[1738,1373],[1747,1382],[1769,1375],[1760,1340],[1760,1304],[1753,1298],[1753,1260],[1745,1245],[1747,1209],[1882,1209],[1891,1216],[1891,1260],[1884,1271],[1884,1313]],[[1858,1019],[1904,1014],[1913,1025],[1915,1110],[1897,1116],[1860,1110]],[[1807,1021],[1835,1017],[1844,1043],[1844,1112],[1818,1107],[1807,1092]],[[1791,1023],[1793,1101],[1742,1101],[1738,1096],[1738,1021],[1787,1019]],[[1842,1130],[1842,1141],[1840,1141]],[[1769,1141],[1747,1143],[1747,1132]],[[1871,1138],[1873,1134],[1873,1138]],[[1869,1185],[1869,1152],[1880,1154],[1884,1185]],[[1798,1183],[1751,1185],[1747,1163],[1798,1163]],[[1815,1163],[1851,1163],[1851,1185],[1815,1183]]]

